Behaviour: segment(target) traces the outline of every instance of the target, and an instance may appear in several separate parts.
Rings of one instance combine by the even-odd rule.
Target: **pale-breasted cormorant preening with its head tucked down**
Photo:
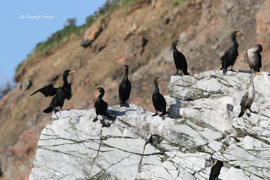
[[[260,54],[262,52],[262,45],[256,44],[255,47],[247,50],[248,64],[250,70],[260,72],[260,68],[262,67],[262,56]]]

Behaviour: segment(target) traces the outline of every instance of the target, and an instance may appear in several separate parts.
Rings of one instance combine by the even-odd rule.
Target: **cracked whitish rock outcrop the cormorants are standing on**
[[[256,76],[258,114],[237,118],[249,71],[173,76],[170,117],[111,106],[53,114],[41,133],[30,179],[269,179],[268,73]]]

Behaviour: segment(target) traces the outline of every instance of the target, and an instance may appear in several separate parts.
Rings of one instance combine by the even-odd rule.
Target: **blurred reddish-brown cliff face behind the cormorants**
[[[151,95],[154,77],[160,91],[168,95],[170,77],[176,72],[171,44],[177,46],[188,62],[190,75],[220,69],[220,56],[232,45],[231,33],[238,37],[239,56],[234,69],[249,70],[246,50],[260,43],[264,48],[261,71],[270,71],[270,2],[247,1],[135,1],[123,5],[97,21],[86,34],[40,53],[25,61],[15,79],[31,81],[27,90],[16,87],[0,101],[0,167],[2,179],[27,179],[32,168],[41,130],[51,120],[44,114],[51,98],[29,95],[53,83],[62,86],[62,73],[76,70],[68,77],[72,83],[72,99],[63,109],[92,108],[98,94],[91,88],[103,87],[104,100],[119,104],[118,86],[129,65],[132,83],[129,102],[154,111]],[[91,39],[90,46],[80,45],[82,38]],[[84,39],[84,40],[85,40]],[[21,83],[22,84],[22,83]],[[0,178],[1,179],[1,178]]]

